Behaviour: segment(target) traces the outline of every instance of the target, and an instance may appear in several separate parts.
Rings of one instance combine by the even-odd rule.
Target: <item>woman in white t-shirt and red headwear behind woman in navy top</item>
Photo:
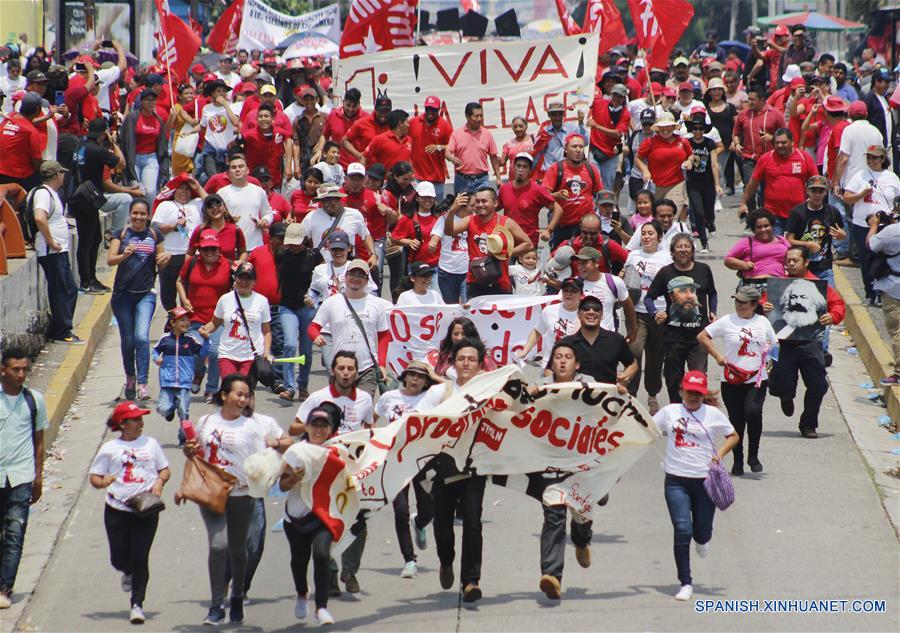
[[[175,187],[174,191],[172,187]],[[176,305],[175,282],[184,265],[191,235],[203,223],[200,204],[206,195],[199,182],[182,174],[170,180],[156,196],[158,204],[150,226],[165,236],[163,246],[172,254],[169,263],[159,270],[159,299],[166,310]]]

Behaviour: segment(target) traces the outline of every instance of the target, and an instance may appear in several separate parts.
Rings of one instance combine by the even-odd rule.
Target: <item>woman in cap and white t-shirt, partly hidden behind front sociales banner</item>
[[[419,402],[425,397],[434,384],[443,382],[438,379],[427,363],[414,360],[400,374],[398,380],[402,387],[386,391],[375,405],[375,413],[379,419],[387,424],[393,424],[400,420],[407,412],[415,411]],[[420,550],[428,546],[428,533],[425,528],[431,523],[434,516],[434,507],[431,495],[422,488],[420,481],[424,476],[416,476],[411,484],[407,484],[396,497],[394,497],[394,530],[397,532],[397,544],[403,555],[403,570],[401,578],[415,578],[418,575],[416,566],[416,553],[413,550],[413,537],[410,534],[410,526],[415,533],[416,547]],[[410,520],[409,515],[409,488],[412,486],[416,495],[416,511]]]

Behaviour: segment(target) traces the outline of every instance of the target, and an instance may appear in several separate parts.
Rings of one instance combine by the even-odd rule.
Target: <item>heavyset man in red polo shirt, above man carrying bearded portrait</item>
[[[747,212],[747,201],[763,185],[763,207],[775,215],[776,235],[784,235],[791,209],[806,202],[806,181],[819,170],[806,152],[794,147],[794,135],[787,128],[775,132],[775,149],[762,155],[744,188],[740,213]]]

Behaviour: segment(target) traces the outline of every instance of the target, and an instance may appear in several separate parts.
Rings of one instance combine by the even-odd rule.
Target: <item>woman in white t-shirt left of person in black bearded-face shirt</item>
[[[634,354],[639,364],[643,365],[643,371],[638,371],[628,385],[628,391],[632,396],[636,395],[641,385],[641,374],[644,376],[644,389],[647,390],[647,405],[650,410],[655,410],[658,405],[656,394],[662,389],[662,361],[663,361],[663,326],[656,322],[644,305],[644,297],[653,283],[656,273],[663,266],[672,263],[672,255],[665,248],[660,248],[663,230],[657,220],[651,220],[641,225],[641,248],[628,253],[622,276],[629,290],[637,290],[640,287],[640,298],[634,302],[634,311],[637,313],[637,332],[634,341],[629,344],[631,353]],[[634,281],[629,283],[629,279]],[[635,292],[635,294],[637,294]],[[657,310],[666,309],[666,300],[660,297],[655,302]],[[641,360],[641,357],[643,361]]]

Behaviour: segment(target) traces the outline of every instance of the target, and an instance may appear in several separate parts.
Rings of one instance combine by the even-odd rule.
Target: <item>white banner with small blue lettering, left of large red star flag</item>
[[[339,41],[340,7],[332,4],[318,11],[294,16],[279,13],[262,0],[246,0],[238,48],[276,48],[288,36],[298,33],[320,35],[333,42]]]

